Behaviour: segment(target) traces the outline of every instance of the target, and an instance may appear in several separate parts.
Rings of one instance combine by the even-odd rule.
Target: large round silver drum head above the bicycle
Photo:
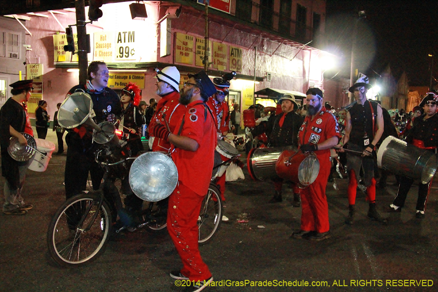
[[[178,170],[170,156],[161,152],[146,152],[132,163],[129,184],[142,200],[161,201],[173,192],[178,183]]]

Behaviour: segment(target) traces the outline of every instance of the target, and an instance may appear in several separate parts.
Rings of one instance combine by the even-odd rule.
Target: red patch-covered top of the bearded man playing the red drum
[[[341,138],[336,117],[324,107],[313,120],[311,118],[306,116],[303,125],[301,125],[298,134],[300,145],[318,144],[335,136]],[[315,154],[321,164],[330,162],[330,149],[317,150]]]

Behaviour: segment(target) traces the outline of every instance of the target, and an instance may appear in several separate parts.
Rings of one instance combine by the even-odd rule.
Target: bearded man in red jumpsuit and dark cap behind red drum
[[[316,154],[320,166],[316,180],[301,192],[301,229],[292,237],[320,241],[330,237],[326,185],[331,168],[330,148],[338,144],[341,134],[335,116],[323,107],[323,92],[310,88],[306,95],[307,116],[298,141],[303,153]]]

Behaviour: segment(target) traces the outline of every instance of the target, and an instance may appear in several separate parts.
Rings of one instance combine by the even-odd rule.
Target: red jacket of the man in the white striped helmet
[[[170,132],[173,133],[177,123],[185,112],[185,106],[180,104],[180,93],[172,91],[158,101],[157,110],[154,112],[149,124],[149,133],[152,133],[152,128],[155,126],[155,120],[159,120],[164,124],[163,113],[167,123],[169,123]],[[159,138],[154,138],[152,151],[165,151],[170,149],[170,143]]]

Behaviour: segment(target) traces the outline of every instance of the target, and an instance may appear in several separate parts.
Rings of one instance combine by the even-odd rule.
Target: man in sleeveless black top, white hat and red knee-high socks
[[[375,148],[383,133],[382,107],[366,99],[366,92],[371,88],[368,77],[359,73],[359,78],[348,91],[354,94],[356,104],[347,112],[345,135],[339,147],[348,142],[348,149],[361,152],[361,154],[347,153],[348,172],[348,204],[349,212],[345,220],[353,224],[356,201],[357,184],[361,167],[364,170],[364,183],[366,186],[366,201],[369,202],[367,217],[381,223],[387,223],[376,209],[376,180],[374,179]]]

